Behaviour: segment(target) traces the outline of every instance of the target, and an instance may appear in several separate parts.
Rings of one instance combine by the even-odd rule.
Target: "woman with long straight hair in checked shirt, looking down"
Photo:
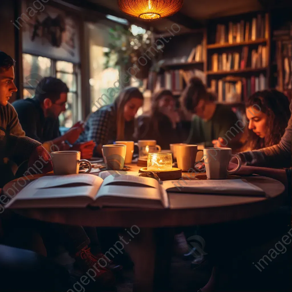
[[[133,140],[134,118],[143,105],[143,95],[136,87],[125,88],[116,100],[92,113],[85,124],[79,142],[93,140],[93,155],[102,156],[102,145],[117,140]]]

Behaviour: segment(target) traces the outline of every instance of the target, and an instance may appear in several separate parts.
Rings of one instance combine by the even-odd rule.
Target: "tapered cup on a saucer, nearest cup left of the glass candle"
[[[102,155],[107,169],[121,170],[124,168],[126,145],[103,145]]]

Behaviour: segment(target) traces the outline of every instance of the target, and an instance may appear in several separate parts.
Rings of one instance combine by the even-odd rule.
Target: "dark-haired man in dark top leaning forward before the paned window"
[[[59,115],[66,110],[67,85],[54,77],[43,78],[36,87],[33,98],[17,100],[13,107],[27,137],[43,144],[49,152],[80,151],[82,159],[90,159],[95,143],[88,141],[72,145],[83,131],[83,123],[78,122],[61,136]]]

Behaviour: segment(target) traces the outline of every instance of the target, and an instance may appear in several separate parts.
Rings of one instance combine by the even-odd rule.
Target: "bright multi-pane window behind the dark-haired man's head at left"
[[[61,79],[69,88],[66,111],[60,114],[61,127],[70,128],[77,117],[77,71],[70,62],[53,60],[41,56],[22,54],[23,98],[32,98],[42,78],[53,76]]]

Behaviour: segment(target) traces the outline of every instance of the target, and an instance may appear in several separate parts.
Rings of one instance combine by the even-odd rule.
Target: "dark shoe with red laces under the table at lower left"
[[[90,283],[96,283],[94,286],[99,286],[104,289],[114,285],[114,274],[107,267],[101,267],[98,264],[98,258],[93,256],[90,248],[82,249],[75,260],[75,267],[84,275],[88,273],[87,276],[89,276]]]

